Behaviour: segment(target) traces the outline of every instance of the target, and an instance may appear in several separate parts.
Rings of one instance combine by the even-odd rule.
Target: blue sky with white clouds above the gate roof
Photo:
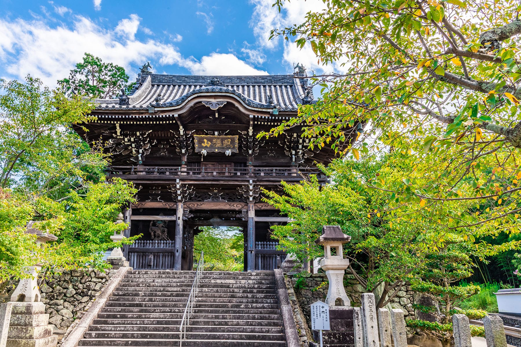
[[[323,3],[293,0],[279,13],[274,1],[0,0],[0,77],[30,73],[54,86],[85,52],[131,80],[146,61],[172,74],[292,73],[297,62],[324,72],[311,48],[267,40]]]

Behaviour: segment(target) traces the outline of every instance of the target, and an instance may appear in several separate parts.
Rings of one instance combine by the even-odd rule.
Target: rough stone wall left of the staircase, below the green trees
[[[41,301],[45,304],[45,313],[49,314],[49,324],[54,326],[54,333],[63,335],[67,328],[89,309],[90,304],[100,294],[113,270],[94,271],[77,269],[61,273],[42,274],[39,279]],[[9,301],[9,293],[3,298]]]

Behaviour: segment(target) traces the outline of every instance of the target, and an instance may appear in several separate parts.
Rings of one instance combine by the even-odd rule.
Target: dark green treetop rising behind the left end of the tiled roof
[[[128,81],[124,68],[85,53],[83,61],[70,70],[68,78],[58,80],[58,85],[67,93],[74,89],[76,93],[91,98],[111,99],[120,94],[120,89],[125,89],[126,93],[130,91],[133,83]]]

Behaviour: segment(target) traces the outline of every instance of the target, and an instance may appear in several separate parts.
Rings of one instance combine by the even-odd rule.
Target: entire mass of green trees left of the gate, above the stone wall
[[[93,105],[31,76],[2,80],[0,89],[0,289],[36,263],[43,271],[107,267],[103,252],[118,246],[109,236],[128,227],[116,225],[116,216],[137,190],[119,179],[105,182],[102,148],[91,149],[70,130],[95,119],[88,115]],[[58,241],[38,247],[24,233],[30,220]]]

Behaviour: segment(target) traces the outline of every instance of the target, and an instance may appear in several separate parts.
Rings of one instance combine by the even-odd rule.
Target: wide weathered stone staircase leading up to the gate
[[[80,346],[179,346],[195,272],[128,271]],[[204,272],[184,347],[286,346],[273,272]]]

